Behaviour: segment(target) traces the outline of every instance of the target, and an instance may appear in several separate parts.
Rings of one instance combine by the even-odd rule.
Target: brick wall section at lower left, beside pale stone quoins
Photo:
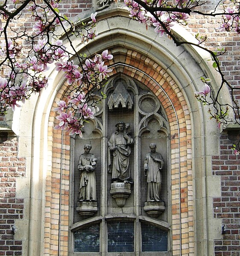
[[[2,136],[1,136],[2,135]],[[17,138],[0,134],[0,255],[22,255],[22,241],[12,228],[23,218],[23,199],[16,198],[16,179],[25,175],[25,158],[18,156]]]

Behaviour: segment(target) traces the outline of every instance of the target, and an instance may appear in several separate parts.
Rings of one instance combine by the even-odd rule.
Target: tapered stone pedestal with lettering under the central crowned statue
[[[125,182],[111,183],[110,194],[116,200],[117,206],[123,207],[131,194],[131,184]]]

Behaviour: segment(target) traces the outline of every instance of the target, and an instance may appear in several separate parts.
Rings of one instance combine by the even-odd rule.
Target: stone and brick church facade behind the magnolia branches
[[[82,138],[53,129],[56,102],[71,88],[52,67],[48,88],[2,117],[0,255],[239,256],[238,129],[218,129],[194,97],[200,77],[218,88],[209,56],[146,30],[121,2],[75,2],[61,6],[75,21],[99,9],[96,39],[72,41],[88,57],[114,56],[108,97]],[[194,17],[174,33],[191,41],[210,22]],[[220,37],[208,31],[214,47]],[[226,41],[222,65],[239,85],[239,38]],[[227,90],[222,102],[231,102]],[[113,174],[117,161],[122,176]]]

